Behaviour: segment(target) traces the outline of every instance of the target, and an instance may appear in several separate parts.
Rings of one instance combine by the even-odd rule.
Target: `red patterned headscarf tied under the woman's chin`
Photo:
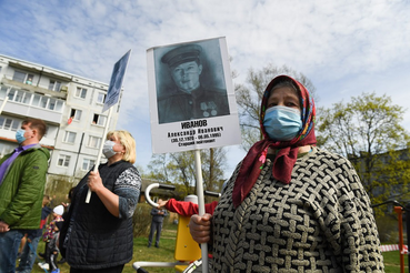
[[[292,81],[293,85],[296,85],[298,89],[299,99],[301,102],[302,129],[300,130],[298,135],[290,141],[273,141],[269,139],[263,128],[264,112],[272,88],[277,83],[286,80]],[[259,120],[260,128],[263,133],[263,140],[254,143],[242,161],[242,165],[239,170],[232,192],[234,206],[238,206],[240,203],[242,203],[243,199],[252,189],[254,182],[260,174],[261,169],[263,168],[269,148],[277,150],[277,155],[274,158],[272,166],[273,178],[286,184],[290,183],[292,169],[298,159],[299,146],[316,144],[314,119],[316,107],[313,98],[309,94],[309,91],[300,82],[288,75],[278,75],[268,84],[263,94]]]

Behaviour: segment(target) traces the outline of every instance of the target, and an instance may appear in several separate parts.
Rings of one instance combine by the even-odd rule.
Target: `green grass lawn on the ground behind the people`
[[[163,230],[161,234],[160,247],[157,249],[154,246],[147,247],[148,245],[148,237],[136,237],[133,240],[133,257],[132,261],[126,264],[123,270],[124,273],[136,272],[132,269],[132,264],[137,261],[147,261],[147,262],[174,262],[173,260],[173,251],[176,244],[176,230],[173,226],[167,226],[167,230]],[[39,243],[39,252],[43,252],[44,243]],[[383,252],[384,257],[384,267],[386,273],[397,273],[400,272],[400,254],[399,251],[391,251],[391,252]],[[408,257],[404,255],[404,267],[407,273],[408,270]],[[61,273],[69,273],[70,269],[67,263],[59,265]],[[174,272],[173,269],[160,269],[160,267],[146,267],[150,273],[156,272]],[[37,262],[33,266],[32,272],[41,273],[44,272],[41,270]],[[50,271],[49,271],[50,273]]]

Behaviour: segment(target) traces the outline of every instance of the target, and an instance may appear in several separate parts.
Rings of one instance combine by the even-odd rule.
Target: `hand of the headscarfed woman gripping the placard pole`
[[[189,221],[189,231],[193,241],[199,244],[208,243],[211,240],[211,219],[212,215],[209,213],[199,216],[194,214]]]

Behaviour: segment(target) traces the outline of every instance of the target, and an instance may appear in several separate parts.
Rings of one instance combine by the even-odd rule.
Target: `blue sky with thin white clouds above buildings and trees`
[[[396,0],[0,0],[0,53],[109,82],[129,49],[117,129],[151,159],[147,49],[226,37],[231,70],[287,64],[314,84],[319,107],[388,94],[410,131],[410,2]],[[228,178],[244,152],[228,148]]]

